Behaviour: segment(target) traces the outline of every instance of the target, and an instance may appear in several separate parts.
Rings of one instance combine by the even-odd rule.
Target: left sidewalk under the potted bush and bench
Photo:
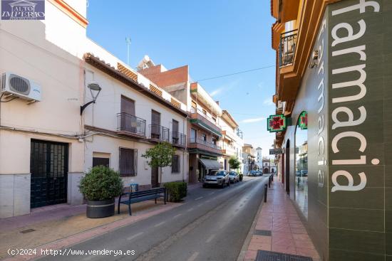
[[[29,215],[0,220],[0,260],[10,257],[7,250],[36,248],[57,250],[70,245],[81,243],[110,230],[115,230],[124,225],[135,223],[139,220],[158,215],[181,203],[166,205],[158,201],[143,201],[132,205],[132,215],[128,215],[128,206],[122,204],[120,214],[108,218],[87,218],[86,205],[68,206],[60,204],[33,210]],[[19,255],[6,260],[29,260],[38,255]]]

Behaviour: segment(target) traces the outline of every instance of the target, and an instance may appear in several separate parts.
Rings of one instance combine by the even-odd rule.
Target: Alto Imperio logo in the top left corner
[[[44,20],[45,0],[0,0],[1,20]]]

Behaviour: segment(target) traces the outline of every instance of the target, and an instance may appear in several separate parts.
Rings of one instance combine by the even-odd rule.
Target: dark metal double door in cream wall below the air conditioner
[[[30,207],[67,202],[68,144],[31,139]]]

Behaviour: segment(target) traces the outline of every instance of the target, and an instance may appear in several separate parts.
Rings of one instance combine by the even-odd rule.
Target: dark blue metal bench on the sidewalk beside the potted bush
[[[125,196],[125,198],[123,198]],[[126,198],[128,196],[128,198]],[[120,204],[128,205],[129,215],[132,215],[130,210],[130,204],[137,203],[141,201],[150,201],[155,199],[155,204],[157,203],[157,198],[163,198],[163,201],[166,205],[166,188],[153,188],[148,191],[135,191],[135,192],[127,192],[121,194],[120,198],[118,198],[118,209],[117,212],[120,214]]]

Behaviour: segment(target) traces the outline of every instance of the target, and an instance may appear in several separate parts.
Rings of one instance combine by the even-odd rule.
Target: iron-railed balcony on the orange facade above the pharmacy
[[[294,62],[297,32],[298,29],[280,35],[279,67],[292,65]]]

